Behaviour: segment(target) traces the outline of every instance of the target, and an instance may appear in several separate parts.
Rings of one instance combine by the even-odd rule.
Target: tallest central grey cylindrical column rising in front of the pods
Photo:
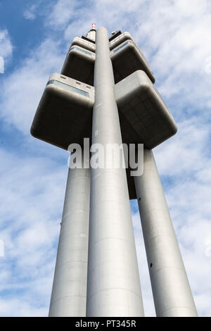
[[[122,144],[108,32],[96,32],[92,144]],[[143,316],[123,168],[91,168],[87,316]]]

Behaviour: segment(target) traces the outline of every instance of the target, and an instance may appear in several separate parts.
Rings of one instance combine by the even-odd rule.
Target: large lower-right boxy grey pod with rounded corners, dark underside
[[[117,83],[115,95],[124,126],[129,124],[127,142],[143,143],[153,149],[177,132],[172,114],[142,70]]]

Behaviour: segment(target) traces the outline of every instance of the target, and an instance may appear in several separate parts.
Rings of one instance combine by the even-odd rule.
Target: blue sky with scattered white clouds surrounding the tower
[[[93,22],[132,34],[177,122],[155,161],[198,314],[211,316],[209,0],[1,0],[0,316],[48,315],[68,152],[31,137],[30,126],[49,75]],[[131,207],[143,306],[155,316],[136,201]]]

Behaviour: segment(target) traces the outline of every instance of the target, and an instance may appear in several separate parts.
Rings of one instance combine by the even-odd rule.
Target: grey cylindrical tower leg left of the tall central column
[[[86,316],[90,169],[69,169],[49,316]]]

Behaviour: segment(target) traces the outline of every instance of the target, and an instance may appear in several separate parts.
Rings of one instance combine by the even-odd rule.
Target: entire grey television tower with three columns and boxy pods
[[[177,132],[155,77],[129,32],[93,23],[73,39],[44,89],[34,137],[70,144],[144,144],[143,174],[68,171],[49,316],[143,316],[130,199],[137,199],[157,316],[197,316],[152,149]],[[71,154],[70,158],[73,157]]]

